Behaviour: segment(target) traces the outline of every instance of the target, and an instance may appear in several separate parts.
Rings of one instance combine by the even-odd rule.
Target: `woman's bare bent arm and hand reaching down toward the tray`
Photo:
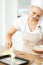
[[[16,31],[17,29],[12,26],[9,32],[6,34],[6,43],[5,43],[6,48],[9,49],[12,47],[12,36]]]

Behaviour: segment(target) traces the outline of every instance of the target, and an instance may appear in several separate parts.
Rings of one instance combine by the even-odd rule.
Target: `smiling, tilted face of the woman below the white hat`
[[[43,11],[40,8],[32,6],[30,9],[30,19],[36,22],[40,19],[42,13]]]

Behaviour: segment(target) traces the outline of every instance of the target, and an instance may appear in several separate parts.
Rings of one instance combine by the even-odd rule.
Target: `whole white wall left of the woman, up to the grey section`
[[[17,17],[17,0],[0,0],[0,45]]]

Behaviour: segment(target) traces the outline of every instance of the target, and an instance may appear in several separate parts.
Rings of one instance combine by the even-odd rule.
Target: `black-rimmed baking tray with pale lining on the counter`
[[[16,56],[14,58],[14,65],[26,65],[30,62],[30,60],[27,60],[25,58],[21,58]],[[0,56],[0,63],[3,65],[10,65],[11,64],[11,56],[10,55],[3,55]]]

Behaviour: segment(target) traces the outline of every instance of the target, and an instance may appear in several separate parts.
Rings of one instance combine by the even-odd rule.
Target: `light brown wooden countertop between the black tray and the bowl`
[[[15,50],[14,53],[18,57],[21,57],[21,58],[25,58],[27,60],[30,60],[30,62],[28,64],[26,64],[26,65],[33,65],[32,62],[36,59],[36,57],[38,59],[40,59],[40,57],[37,56],[37,55],[32,55],[32,54],[29,54],[29,53],[26,53],[26,52],[23,52],[23,51]],[[0,63],[0,65],[3,65],[3,64]]]

